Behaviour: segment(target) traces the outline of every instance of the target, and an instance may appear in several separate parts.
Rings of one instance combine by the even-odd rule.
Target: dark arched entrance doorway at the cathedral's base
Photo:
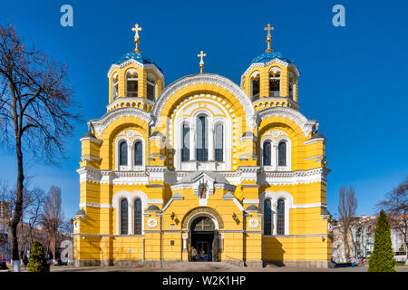
[[[219,260],[218,232],[214,222],[207,216],[195,218],[189,227],[190,247],[195,247],[199,262]],[[203,251],[203,255],[200,255]]]

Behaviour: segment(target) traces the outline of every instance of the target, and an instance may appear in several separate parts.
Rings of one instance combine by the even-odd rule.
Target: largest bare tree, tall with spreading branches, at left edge
[[[24,206],[24,154],[56,164],[64,140],[80,120],[73,113],[73,89],[66,66],[28,48],[15,26],[0,26],[0,131],[2,145],[15,153],[15,209],[9,222],[12,258],[19,260],[17,226]],[[60,154],[58,154],[60,153]]]

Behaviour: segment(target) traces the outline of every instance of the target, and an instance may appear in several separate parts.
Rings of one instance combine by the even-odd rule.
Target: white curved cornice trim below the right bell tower
[[[257,116],[259,120],[264,120],[269,117],[284,117],[295,121],[296,124],[305,133],[306,138],[313,131],[313,128],[318,124],[316,120],[307,120],[306,117],[299,111],[287,107],[267,108],[261,111],[257,111]]]

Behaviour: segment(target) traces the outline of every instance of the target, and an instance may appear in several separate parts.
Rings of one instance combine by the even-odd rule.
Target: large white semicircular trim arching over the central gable
[[[257,125],[256,112],[254,111],[252,103],[249,101],[248,95],[242,91],[242,89],[239,88],[236,83],[220,76],[219,74],[210,73],[199,73],[185,76],[176,82],[171,83],[166,89],[164,89],[163,92],[160,93],[160,96],[155,102],[151,111],[151,115],[154,116],[154,123],[152,125],[153,130],[155,130],[158,126],[161,111],[163,110],[166,102],[170,100],[170,97],[181,89],[198,83],[209,83],[220,86],[236,96],[244,108],[249,128],[251,131],[254,130],[255,126]]]

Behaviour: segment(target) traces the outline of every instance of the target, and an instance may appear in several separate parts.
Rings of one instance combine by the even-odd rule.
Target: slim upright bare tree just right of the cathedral
[[[342,224],[341,232],[343,242],[345,243],[345,257],[350,258],[350,244],[354,247],[353,226],[355,223],[355,211],[357,209],[357,199],[355,198],[355,189],[350,186],[347,189],[342,186],[339,189],[338,215]]]

